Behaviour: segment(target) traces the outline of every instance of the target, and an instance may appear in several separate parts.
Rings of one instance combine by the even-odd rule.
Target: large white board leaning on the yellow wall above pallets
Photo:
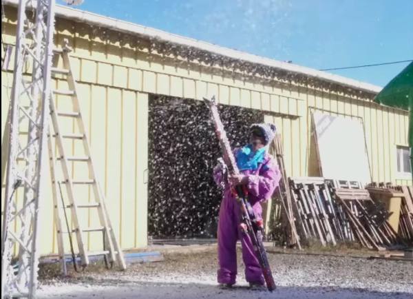
[[[370,165],[361,121],[313,113],[313,126],[321,175],[346,181],[371,183]]]

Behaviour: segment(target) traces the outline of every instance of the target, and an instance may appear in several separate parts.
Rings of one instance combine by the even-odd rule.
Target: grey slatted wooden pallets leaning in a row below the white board
[[[398,243],[388,212],[361,184],[302,177],[290,178],[289,186],[297,205],[295,222],[304,239],[317,239],[324,246],[358,240],[377,250]]]

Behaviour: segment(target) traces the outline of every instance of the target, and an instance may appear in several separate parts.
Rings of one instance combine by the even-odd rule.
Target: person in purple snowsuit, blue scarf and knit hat
[[[234,151],[241,174],[228,176],[222,160],[213,170],[215,183],[224,189],[218,220],[218,283],[221,287],[231,287],[235,284],[237,240],[240,240],[242,245],[246,281],[251,287],[264,286],[264,277],[255,257],[251,238],[240,226],[240,207],[231,192],[231,186],[246,186],[248,201],[253,207],[255,216],[257,219],[262,219],[261,203],[271,198],[281,178],[275,159],[268,154],[268,145],[274,136],[275,125],[264,123],[252,125],[250,143]]]

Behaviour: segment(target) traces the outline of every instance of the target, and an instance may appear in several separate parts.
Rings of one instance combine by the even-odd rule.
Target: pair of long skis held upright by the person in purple
[[[218,112],[218,107],[215,103],[215,96],[213,96],[211,100],[204,98],[204,102],[211,111],[211,118],[215,125],[215,134],[220,142],[222,158],[228,168],[229,174],[240,174],[240,170],[235,162],[231,145],[229,144],[228,137],[226,136],[226,132],[224,130],[224,125],[222,124],[220,114]],[[240,205],[241,224],[243,224],[243,227],[246,228],[246,233],[251,238],[251,242],[253,243],[255,256],[260,262],[266,287],[268,288],[268,291],[273,291],[275,290],[275,282],[273,274],[271,273],[271,267],[268,263],[266,251],[262,243],[262,220],[255,217],[253,207],[251,207],[251,204],[248,202],[248,192],[245,187],[242,185],[236,186],[233,190],[233,194],[235,195],[238,205]]]

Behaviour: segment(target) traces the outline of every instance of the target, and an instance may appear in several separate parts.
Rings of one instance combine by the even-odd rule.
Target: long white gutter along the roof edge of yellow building
[[[3,0],[3,3],[9,4],[11,6],[19,5],[18,0]],[[34,5],[34,3],[36,3],[36,1],[33,1],[32,5]],[[382,87],[372,85],[370,83],[349,79],[343,76],[330,74],[328,72],[321,72],[319,70],[306,68],[292,63],[276,61],[274,59],[268,59],[262,56],[248,54],[246,52],[241,52],[230,48],[220,47],[219,45],[213,45],[212,43],[198,41],[196,39],[190,39],[188,37],[182,37],[177,34],[171,34],[169,32],[138,25],[136,23],[130,23],[127,21],[121,21],[110,17],[104,17],[100,14],[94,14],[92,12],[86,12],[84,10],[76,10],[74,8],[56,5],[55,12],[57,17],[61,17],[64,19],[70,19],[81,23],[88,23],[89,25],[96,25],[99,27],[108,28],[110,30],[125,32],[127,34],[140,34],[142,36],[151,38],[156,37],[158,39],[169,41],[171,43],[178,43],[180,45],[198,48],[200,50],[204,50],[221,56],[226,56],[231,59],[239,59],[242,61],[248,61],[251,63],[257,63],[260,65],[277,68],[287,72],[304,74],[306,76],[310,76],[321,81],[328,81],[330,83],[343,85],[355,90],[361,90],[363,92],[377,94],[382,90]]]

